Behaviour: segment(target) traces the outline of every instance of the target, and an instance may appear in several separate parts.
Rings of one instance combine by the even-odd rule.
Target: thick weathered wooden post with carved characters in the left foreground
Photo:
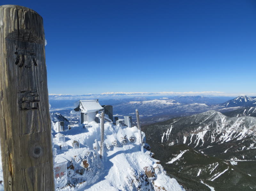
[[[0,140],[5,191],[53,191],[42,17],[0,6]]]

